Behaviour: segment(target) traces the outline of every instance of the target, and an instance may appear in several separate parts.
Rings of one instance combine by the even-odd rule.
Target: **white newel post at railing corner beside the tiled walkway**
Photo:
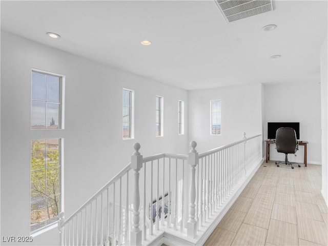
[[[197,143],[190,143],[191,150],[188,153],[188,163],[190,165],[190,191],[189,191],[189,220],[187,223],[187,236],[195,238],[197,234],[196,213],[196,184],[195,184],[195,168],[198,165],[198,152],[195,150]]]

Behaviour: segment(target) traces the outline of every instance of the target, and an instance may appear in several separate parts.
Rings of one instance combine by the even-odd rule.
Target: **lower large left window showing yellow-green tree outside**
[[[31,232],[58,220],[61,139],[31,141]]]

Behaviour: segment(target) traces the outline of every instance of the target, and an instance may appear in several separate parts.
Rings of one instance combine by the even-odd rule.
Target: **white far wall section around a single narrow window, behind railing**
[[[262,86],[189,91],[189,141],[199,153],[262,133]],[[210,135],[210,100],[221,100],[221,135]]]

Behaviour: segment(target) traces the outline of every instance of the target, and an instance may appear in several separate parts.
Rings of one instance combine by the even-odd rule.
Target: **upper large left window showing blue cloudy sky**
[[[32,71],[31,129],[61,128],[61,77]]]

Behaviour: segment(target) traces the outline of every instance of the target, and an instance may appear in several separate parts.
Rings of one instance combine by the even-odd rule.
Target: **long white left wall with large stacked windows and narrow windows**
[[[67,217],[129,163],[135,142],[140,142],[144,156],[187,154],[187,134],[178,135],[177,127],[178,100],[184,100],[187,109],[187,91],[6,32],[1,34],[1,51],[2,235],[30,234],[31,139],[64,138]],[[64,130],[30,130],[33,68],[66,76]],[[122,140],[122,88],[135,91],[132,140]],[[156,95],[164,97],[163,137],[155,137]],[[33,243],[56,245],[58,238],[54,229],[35,237]]]

